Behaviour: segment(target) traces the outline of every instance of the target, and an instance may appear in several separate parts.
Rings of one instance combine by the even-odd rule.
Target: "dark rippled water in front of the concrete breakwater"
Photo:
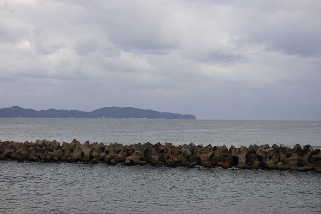
[[[321,174],[0,162],[6,213],[316,213]]]

